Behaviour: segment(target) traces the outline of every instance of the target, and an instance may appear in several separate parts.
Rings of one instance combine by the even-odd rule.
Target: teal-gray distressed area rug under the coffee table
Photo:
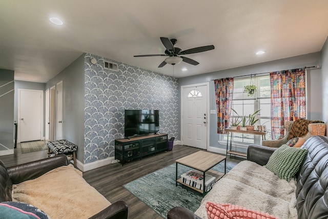
[[[233,166],[227,165],[227,172],[232,168]],[[224,164],[218,164],[213,169],[224,172]],[[189,170],[189,167],[178,165],[178,176]],[[195,212],[203,198],[202,194],[187,187],[180,184],[175,186],[175,164],[138,178],[124,185],[124,188],[163,218],[167,218],[167,213],[175,206]]]

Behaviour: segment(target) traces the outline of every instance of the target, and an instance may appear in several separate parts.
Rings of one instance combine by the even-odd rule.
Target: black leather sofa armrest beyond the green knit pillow
[[[275,150],[276,148],[268,148],[260,145],[250,145],[247,149],[247,160],[264,166],[268,163],[270,156]]]

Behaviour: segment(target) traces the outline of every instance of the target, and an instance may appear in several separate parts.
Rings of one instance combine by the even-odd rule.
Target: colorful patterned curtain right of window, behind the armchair
[[[270,73],[272,139],[284,136],[284,121],[305,118],[305,70]]]

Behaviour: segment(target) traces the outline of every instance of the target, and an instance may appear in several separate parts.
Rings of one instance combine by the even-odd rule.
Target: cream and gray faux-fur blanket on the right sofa
[[[207,218],[205,205],[210,201],[263,211],[280,219],[295,219],[295,190],[295,180],[288,183],[265,167],[242,161],[214,185],[195,214]]]

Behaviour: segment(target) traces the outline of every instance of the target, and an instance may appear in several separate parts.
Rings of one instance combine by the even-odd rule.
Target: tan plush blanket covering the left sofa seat
[[[13,185],[12,199],[34,205],[52,219],[89,218],[111,204],[71,164]]]

